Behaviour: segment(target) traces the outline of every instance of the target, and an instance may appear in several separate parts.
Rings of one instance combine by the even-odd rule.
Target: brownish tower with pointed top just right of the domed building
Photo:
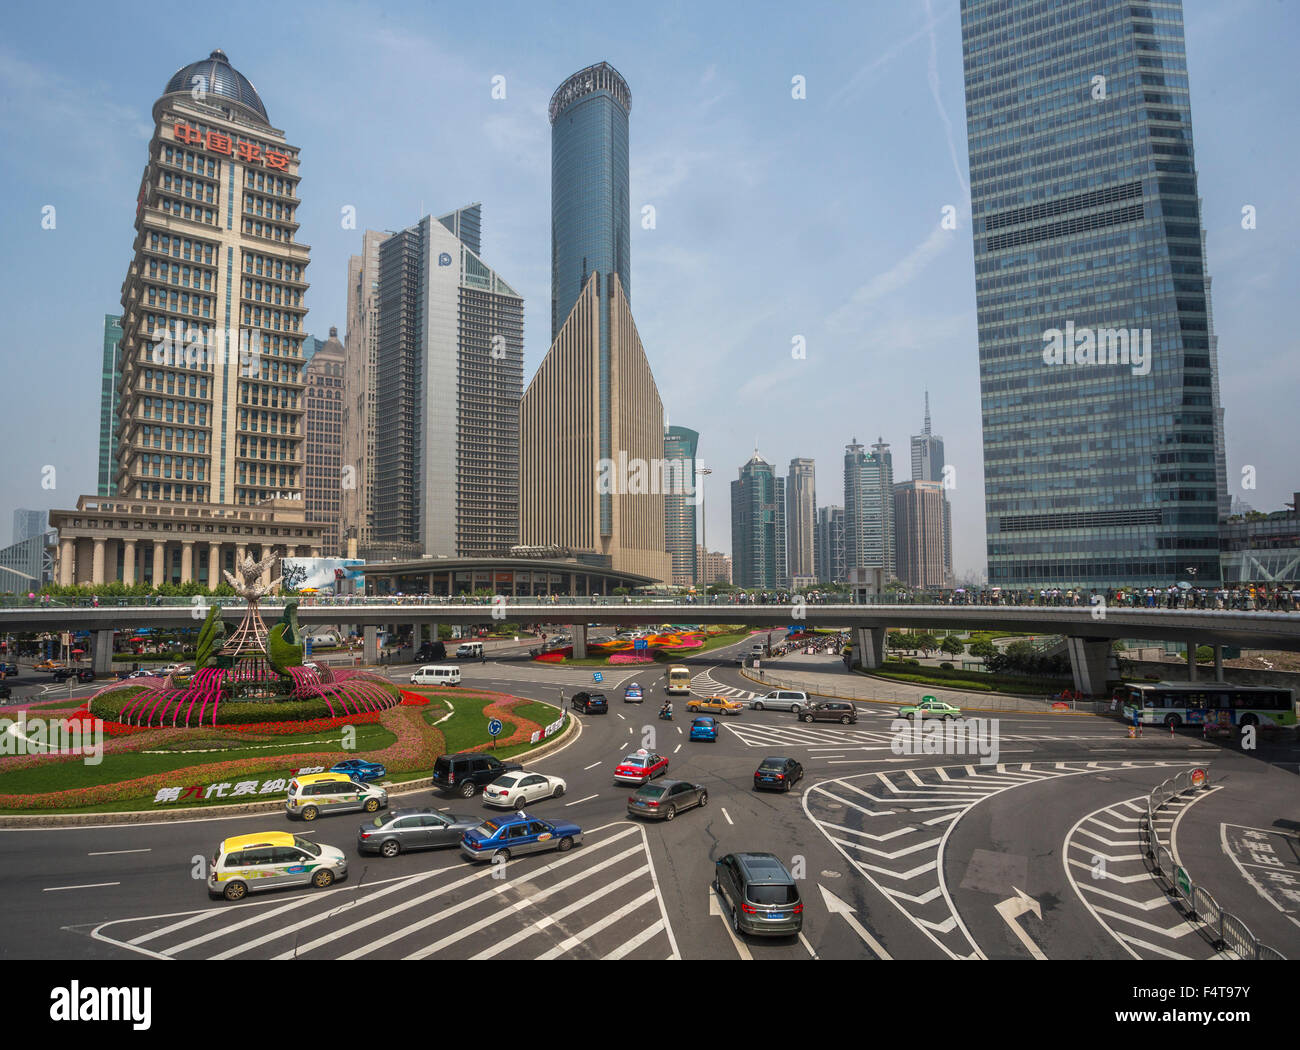
[[[307,390],[307,520],[326,526],[322,531],[326,556],[343,555],[339,503],[343,482],[343,363],[346,355],[338,329],[329,330],[304,369]]]

